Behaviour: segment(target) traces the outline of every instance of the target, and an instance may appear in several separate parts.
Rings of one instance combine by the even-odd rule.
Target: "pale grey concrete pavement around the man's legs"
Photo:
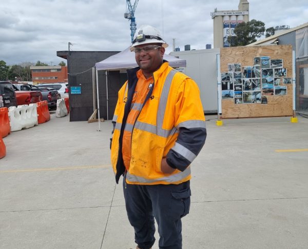
[[[217,127],[216,118],[206,116],[208,137],[191,166],[183,248],[308,248],[308,119]],[[97,130],[53,112],[4,138],[0,248],[136,248],[109,160],[111,121]]]

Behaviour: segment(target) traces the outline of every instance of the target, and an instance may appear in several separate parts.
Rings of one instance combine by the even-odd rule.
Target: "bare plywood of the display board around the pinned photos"
[[[228,64],[240,63],[241,67],[254,66],[254,57],[269,56],[271,59],[283,59],[286,77],[292,78],[292,46],[270,45],[254,47],[222,48],[220,50],[221,73],[228,71]],[[267,104],[241,103],[235,104],[234,99],[222,99],[222,118],[269,117],[293,115],[293,89],[287,87],[286,95],[267,96]]]

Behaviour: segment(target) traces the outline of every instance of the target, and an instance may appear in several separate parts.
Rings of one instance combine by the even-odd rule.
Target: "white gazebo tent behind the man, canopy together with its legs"
[[[129,68],[136,68],[138,67],[134,53],[129,50],[130,47],[123,50],[118,54],[114,54],[107,59],[104,59],[98,63],[95,63],[95,71],[96,71],[96,78],[97,78],[97,98],[98,98],[98,116],[100,120],[100,100],[99,100],[99,77],[98,71],[106,70],[106,91],[107,91],[107,119],[109,119],[108,115],[108,77],[107,71],[109,70],[124,70]],[[169,66],[172,68],[178,67],[186,67],[186,60],[179,59],[177,57],[171,56],[169,54],[164,54],[164,59],[169,62]],[[99,131],[100,131],[100,121],[99,121]]]

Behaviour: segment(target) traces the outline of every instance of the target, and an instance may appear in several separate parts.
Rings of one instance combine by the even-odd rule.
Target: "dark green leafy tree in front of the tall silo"
[[[228,41],[231,47],[246,46],[257,41],[256,38],[261,37],[264,31],[264,23],[252,19],[247,23],[238,24],[234,29],[235,36],[229,36]]]

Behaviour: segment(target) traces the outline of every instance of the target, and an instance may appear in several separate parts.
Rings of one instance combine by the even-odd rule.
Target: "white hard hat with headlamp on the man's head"
[[[148,43],[161,43],[162,47],[167,48],[168,44],[163,40],[158,29],[150,25],[142,25],[136,30],[130,51],[134,50],[134,47]]]

